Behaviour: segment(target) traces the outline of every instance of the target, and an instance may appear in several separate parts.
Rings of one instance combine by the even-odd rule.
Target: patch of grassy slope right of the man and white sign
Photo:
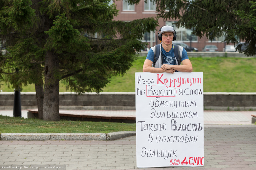
[[[203,71],[204,92],[256,92],[256,58],[192,58]]]

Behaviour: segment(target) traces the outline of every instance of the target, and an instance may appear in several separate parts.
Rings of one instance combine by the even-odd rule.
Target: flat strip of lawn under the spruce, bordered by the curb
[[[110,133],[136,130],[135,123],[68,120],[53,122],[2,115],[0,115],[0,124],[0,133]]]

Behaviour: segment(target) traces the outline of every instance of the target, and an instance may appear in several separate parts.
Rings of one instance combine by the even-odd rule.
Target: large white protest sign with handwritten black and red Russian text
[[[203,166],[203,72],[136,73],[137,167]]]

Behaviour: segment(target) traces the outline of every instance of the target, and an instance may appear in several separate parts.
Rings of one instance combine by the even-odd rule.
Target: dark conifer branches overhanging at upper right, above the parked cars
[[[253,5],[254,4],[254,5]],[[247,56],[256,54],[255,2],[250,0],[160,0],[159,17],[178,19],[177,27],[192,29],[192,34],[209,40],[224,36],[224,42],[245,41]],[[243,17],[244,15],[244,17]],[[251,16],[251,17],[245,17]],[[237,47],[241,49],[241,45]]]

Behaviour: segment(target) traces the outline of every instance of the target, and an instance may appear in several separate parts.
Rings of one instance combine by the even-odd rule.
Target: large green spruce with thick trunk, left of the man
[[[134,1],[135,2],[135,1]],[[134,3],[133,2],[133,3]],[[145,47],[157,20],[113,21],[109,0],[2,0],[0,76],[15,88],[35,84],[39,117],[60,120],[59,81],[77,93],[101,92]],[[97,35],[97,36],[96,36]],[[1,77],[0,77],[1,78]]]

